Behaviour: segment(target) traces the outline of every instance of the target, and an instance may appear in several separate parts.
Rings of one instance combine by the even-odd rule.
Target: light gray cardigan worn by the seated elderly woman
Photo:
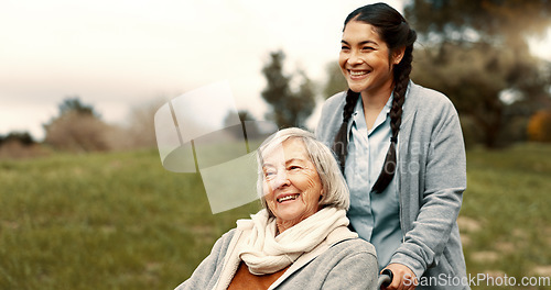
[[[349,232],[346,227],[343,231]],[[175,290],[210,290],[219,280],[228,283],[239,263],[236,245],[247,236],[242,233],[238,227],[224,234],[192,277]],[[378,271],[375,247],[358,237],[343,239],[338,233],[333,236],[299,257],[269,289],[375,290]]]

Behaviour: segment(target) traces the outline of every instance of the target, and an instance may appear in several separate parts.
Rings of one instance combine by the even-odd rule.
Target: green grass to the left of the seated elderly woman
[[[0,163],[0,289],[173,289],[251,203],[213,215],[156,152]]]

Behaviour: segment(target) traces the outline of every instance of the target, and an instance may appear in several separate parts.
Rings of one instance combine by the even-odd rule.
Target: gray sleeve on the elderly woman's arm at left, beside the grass
[[[210,254],[197,266],[192,276],[175,290],[210,289],[216,283],[224,264],[224,257],[235,230],[224,234],[213,246]]]

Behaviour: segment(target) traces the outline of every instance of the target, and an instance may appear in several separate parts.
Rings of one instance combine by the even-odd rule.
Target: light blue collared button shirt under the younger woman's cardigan
[[[358,98],[352,116],[345,178],[350,189],[348,219],[358,235],[377,249],[379,269],[385,268],[402,242],[397,177],[381,193],[371,192],[390,146],[392,96],[371,130],[367,129],[364,103]]]

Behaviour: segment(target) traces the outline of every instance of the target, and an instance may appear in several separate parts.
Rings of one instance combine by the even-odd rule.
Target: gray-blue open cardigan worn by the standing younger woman
[[[341,92],[325,102],[316,127],[317,138],[329,147],[343,122],[345,96]],[[421,282],[429,277],[444,278],[417,289],[468,289],[447,285],[449,279],[466,280],[456,222],[466,189],[465,159],[460,119],[452,102],[437,91],[410,82],[395,176],[403,243],[390,263],[408,266]]]

